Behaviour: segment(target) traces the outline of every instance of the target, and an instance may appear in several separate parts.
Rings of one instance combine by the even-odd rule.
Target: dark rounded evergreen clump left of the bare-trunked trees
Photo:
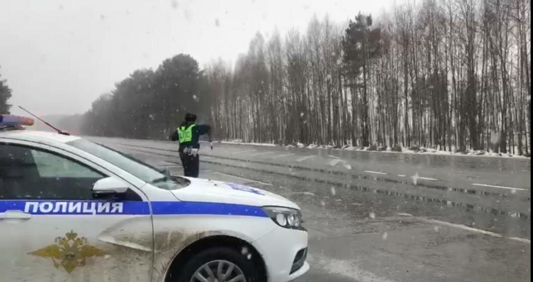
[[[84,114],[85,135],[126,138],[165,138],[175,130],[186,111],[208,117],[206,78],[198,62],[179,54],[161,62],[154,71],[135,70],[117,82],[115,90],[101,95]]]

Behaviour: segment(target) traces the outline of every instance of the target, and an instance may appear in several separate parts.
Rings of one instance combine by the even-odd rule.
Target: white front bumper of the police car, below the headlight
[[[291,281],[307,272],[307,244],[307,231],[283,227],[252,243],[263,256],[269,282]]]

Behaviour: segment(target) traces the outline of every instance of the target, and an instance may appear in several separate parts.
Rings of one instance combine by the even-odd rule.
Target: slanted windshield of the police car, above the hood
[[[95,155],[116,167],[123,169],[131,175],[155,185],[159,188],[177,189],[187,186],[189,181],[181,177],[169,176],[168,172],[158,169],[135,157],[114,150],[108,146],[97,144],[86,139],[78,139],[67,143],[68,145]]]

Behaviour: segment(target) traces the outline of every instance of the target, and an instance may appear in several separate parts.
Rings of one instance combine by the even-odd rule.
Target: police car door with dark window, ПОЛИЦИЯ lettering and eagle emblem
[[[95,199],[95,183],[127,189]],[[58,148],[0,140],[0,281],[149,281],[152,238],[147,198],[127,180]]]

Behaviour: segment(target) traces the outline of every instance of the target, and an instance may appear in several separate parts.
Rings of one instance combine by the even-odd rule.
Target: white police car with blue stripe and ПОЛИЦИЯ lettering
[[[0,281],[289,281],[309,269],[300,210],[281,196],[0,117]]]

